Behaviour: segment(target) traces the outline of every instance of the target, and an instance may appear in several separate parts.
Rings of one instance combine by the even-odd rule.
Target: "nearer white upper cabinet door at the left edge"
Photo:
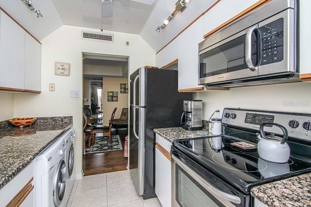
[[[25,31],[1,12],[0,87],[24,90]]]

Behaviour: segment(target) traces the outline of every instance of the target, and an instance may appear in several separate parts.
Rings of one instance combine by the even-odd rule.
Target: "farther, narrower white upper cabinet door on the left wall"
[[[41,91],[41,44],[25,33],[25,90]]]

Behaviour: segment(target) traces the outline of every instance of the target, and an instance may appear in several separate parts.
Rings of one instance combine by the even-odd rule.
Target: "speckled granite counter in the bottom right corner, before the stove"
[[[311,173],[254,187],[251,195],[269,207],[310,207]]]

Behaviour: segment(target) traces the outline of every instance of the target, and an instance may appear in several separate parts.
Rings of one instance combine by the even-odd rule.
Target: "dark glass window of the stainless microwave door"
[[[252,62],[258,64],[257,30],[252,33]],[[245,63],[245,36],[233,39],[200,55],[200,78],[248,68]]]

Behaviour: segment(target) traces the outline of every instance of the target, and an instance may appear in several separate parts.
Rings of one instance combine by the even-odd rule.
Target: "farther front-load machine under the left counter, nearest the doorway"
[[[66,134],[64,135],[64,139],[66,142],[65,149],[65,163],[66,163],[66,190],[65,190],[65,201],[67,203],[69,199],[69,195],[74,183],[74,178],[72,175],[73,172],[73,161],[74,161],[74,149],[73,149],[73,138],[75,138],[76,134],[73,128],[70,128]]]

